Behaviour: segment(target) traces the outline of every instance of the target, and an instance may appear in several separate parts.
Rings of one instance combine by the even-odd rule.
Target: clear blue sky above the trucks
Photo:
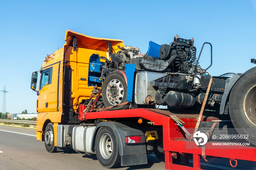
[[[6,111],[36,112],[31,73],[46,54],[63,47],[66,30],[99,38],[122,39],[146,53],[148,42],[169,44],[178,34],[195,39],[197,57],[204,42],[212,44],[213,76],[244,73],[256,66],[256,1],[1,1],[0,90]],[[200,65],[210,65],[205,46]],[[3,93],[0,93],[0,112]]]

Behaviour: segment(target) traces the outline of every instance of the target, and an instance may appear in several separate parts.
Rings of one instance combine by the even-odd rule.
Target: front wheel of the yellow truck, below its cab
[[[54,146],[54,131],[52,123],[49,123],[45,128],[45,148],[51,153],[57,151],[57,147]]]

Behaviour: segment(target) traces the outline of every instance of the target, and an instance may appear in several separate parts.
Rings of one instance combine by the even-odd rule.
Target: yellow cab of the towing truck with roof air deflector
[[[122,40],[94,38],[70,30],[66,31],[65,41],[63,48],[45,56],[41,69],[32,75],[31,89],[37,91],[38,95],[38,141],[44,140],[43,134],[49,123],[53,124],[56,133],[59,123],[80,122],[78,105],[89,100],[93,89],[93,86],[88,84],[88,73],[93,72],[89,70],[91,55],[98,54],[109,58],[109,43],[113,50],[118,50],[118,46],[124,46]],[[41,76],[37,82],[38,72]],[[91,79],[93,78],[91,76]],[[91,82],[97,84],[97,81],[100,82]]]

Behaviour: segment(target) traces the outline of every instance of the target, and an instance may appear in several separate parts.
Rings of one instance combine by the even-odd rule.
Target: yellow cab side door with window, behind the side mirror
[[[49,112],[48,93],[49,85],[52,83],[52,67],[41,72],[39,96],[38,96],[38,112]]]

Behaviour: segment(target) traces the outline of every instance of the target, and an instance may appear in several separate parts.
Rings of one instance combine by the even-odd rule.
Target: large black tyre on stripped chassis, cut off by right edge
[[[230,119],[240,135],[256,145],[256,67],[249,69],[233,86],[229,97]]]

